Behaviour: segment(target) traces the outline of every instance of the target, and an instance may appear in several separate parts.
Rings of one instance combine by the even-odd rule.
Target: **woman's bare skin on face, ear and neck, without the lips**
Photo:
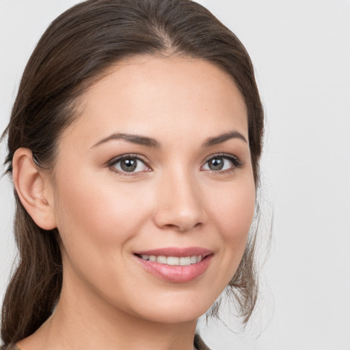
[[[52,174],[33,165],[29,150],[14,157],[19,196],[39,226],[58,228],[64,263],[53,317],[18,345],[192,349],[196,321],[237,270],[254,215],[243,98],[230,76],[204,60],[144,56],[111,67],[80,107],[59,141]],[[245,140],[203,146],[228,131]],[[161,146],[98,144],[113,133]],[[220,153],[241,165],[221,158],[224,170],[211,170],[208,159]],[[122,154],[144,163],[123,173],[110,162]],[[161,247],[204,247],[213,256],[198,278],[174,283],[134,255]]]

